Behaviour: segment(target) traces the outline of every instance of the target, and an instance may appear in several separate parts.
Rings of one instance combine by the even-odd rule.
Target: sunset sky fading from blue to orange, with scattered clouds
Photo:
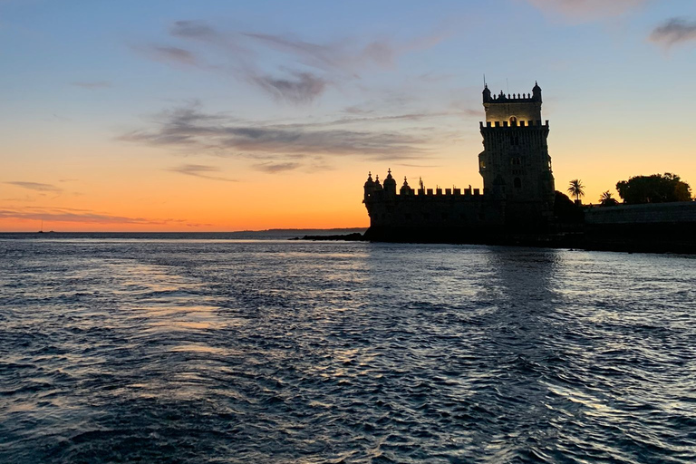
[[[693,0],[0,0],[0,60],[5,232],[367,227],[369,171],[482,187],[484,75],[556,189],[696,188]]]

